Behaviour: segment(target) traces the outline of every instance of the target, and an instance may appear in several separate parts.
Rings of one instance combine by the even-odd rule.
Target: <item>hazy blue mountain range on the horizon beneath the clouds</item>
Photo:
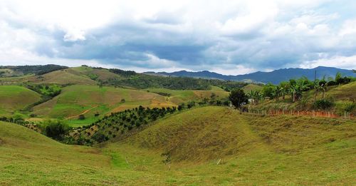
[[[314,74],[316,71],[317,78],[323,78],[325,76],[335,77],[337,72],[342,73],[344,76],[355,76],[351,70],[345,70],[341,68],[325,67],[318,66],[316,68],[304,69],[304,68],[282,68],[276,71],[271,72],[261,72],[248,73],[244,75],[237,76],[226,76],[220,73],[214,73],[210,71],[198,71],[198,72],[189,72],[189,71],[177,71],[172,73],[167,72],[147,72],[150,75],[156,76],[177,76],[177,77],[192,77],[192,78],[209,78],[209,79],[221,79],[229,81],[245,81],[245,82],[256,82],[256,83],[273,83],[277,84],[281,81],[288,81],[290,78],[300,78],[302,76],[307,77],[308,79],[313,80]]]

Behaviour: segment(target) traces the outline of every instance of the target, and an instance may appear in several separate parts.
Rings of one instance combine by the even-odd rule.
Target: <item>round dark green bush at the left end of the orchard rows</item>
[[[64,135],[68,133],[69,127],[61,120],[47,120],[46,122],[46,135],[55,140],[63,140]]]

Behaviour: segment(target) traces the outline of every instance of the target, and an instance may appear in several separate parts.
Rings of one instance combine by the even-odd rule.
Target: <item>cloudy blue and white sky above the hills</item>
[[[0,66],[356,68],[355,0],[0,0]]]

